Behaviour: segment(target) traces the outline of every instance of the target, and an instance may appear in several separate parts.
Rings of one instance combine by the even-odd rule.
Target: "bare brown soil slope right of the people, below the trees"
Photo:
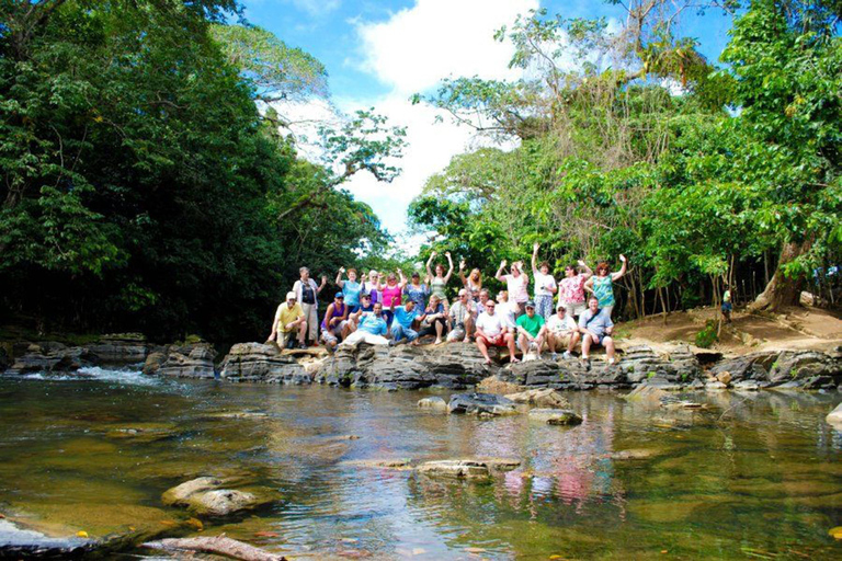
[[[617,324],[615,332],[623,347],[635,344],[661,346],[682,342],[695,344],[695,336],[707,320],[718,320],[719,310],[697,308],[674,312],[667,318],[652,316]],[[724,324],[712,351],[739,355],[755,351],[831,351],[842,345],[842,314],[817,308],[789,308],[783,313],[750,313],[737,310],[732,323]]]

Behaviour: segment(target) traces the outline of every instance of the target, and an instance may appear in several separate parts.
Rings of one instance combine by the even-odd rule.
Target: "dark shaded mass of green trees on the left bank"
[[[0,3],[4,313],[254,340],[298,266],[335,274],[383,251],[371,208],[255,105],[326,95],[323,67],[224,23],[238,13],[228,0]],[[353,131],[345,148],[376,169],[395,142],[368,138],[365,119],[332,146]]]

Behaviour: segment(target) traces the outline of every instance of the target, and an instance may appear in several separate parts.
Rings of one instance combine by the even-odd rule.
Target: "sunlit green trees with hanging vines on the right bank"
[[[838,305],[842,257],[838,1],[610,0],[604,20],[546,11],[497,33],[515,82],[445,80],[433,103],[517,146],[454,158],[411,208],[417,229],[493,272],[543,244],[557,274],[584,259],[630,274],[625,318],[716,302]],[[721,65],[678,35],[699,7],[733,18]],[[764,289],[765,287],[765,289]],[[762,294],[760,294],[762,293]]]

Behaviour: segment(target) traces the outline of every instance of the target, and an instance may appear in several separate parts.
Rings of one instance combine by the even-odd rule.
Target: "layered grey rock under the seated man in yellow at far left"
[[[220,365],[220,376],[229,381],[263,383],[310,383],[312,377],[303,365],[284,355],[275,344],[234,345]]]

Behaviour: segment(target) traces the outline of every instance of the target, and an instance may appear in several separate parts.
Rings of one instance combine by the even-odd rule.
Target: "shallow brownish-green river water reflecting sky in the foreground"
[[[209,474],[277,501],[193,534],[292,559],[842,559],[838,394],[697,393],[708,411],[670,413],[569,393],[568,428],[420,410],[421,392],[86,374],[0,378],[0,513],[52,536],[177,527],[190,515],[161,493]],[[243,411],[266,415],[218,415]],[[523,463],[470,483],[353,462],[470,456]]]

